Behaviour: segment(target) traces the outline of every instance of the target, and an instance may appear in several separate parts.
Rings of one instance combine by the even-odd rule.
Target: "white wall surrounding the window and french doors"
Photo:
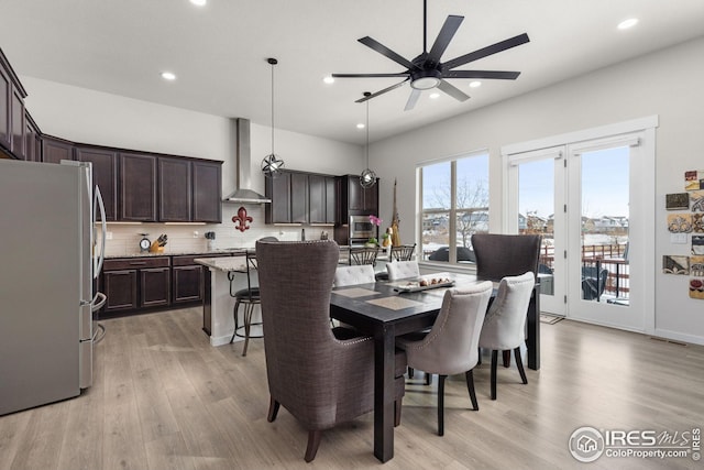
[[[499,147],[658,114],[656,187],[656,334],[704,343],[704,302],[688,296],[686,276],[661,273],[663,254],[689,254],[671,244],[664,195],[683,192],[686,170],[704,170],[704,39],[607,67],[521,97],[397,135],[372,145],[382,178],[381,217],[391,219],[393,182],[404,241],[415,238],[415,165],[479,149],[490,151],[491,230],[501,230]],[[421,109],[418,110],[421,112]]]

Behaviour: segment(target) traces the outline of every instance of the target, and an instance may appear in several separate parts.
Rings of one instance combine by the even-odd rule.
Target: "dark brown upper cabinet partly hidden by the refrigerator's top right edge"
[[[106,221],[118,220],[118,152],[107,147],[76,146],[76,160],[92,164],[92,183],[100,188]]]

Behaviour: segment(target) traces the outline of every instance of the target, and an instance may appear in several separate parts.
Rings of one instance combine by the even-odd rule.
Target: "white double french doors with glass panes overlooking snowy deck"
[[[654,131],[505,154],[506,231],[541,233],[541,310],[652,330]]]

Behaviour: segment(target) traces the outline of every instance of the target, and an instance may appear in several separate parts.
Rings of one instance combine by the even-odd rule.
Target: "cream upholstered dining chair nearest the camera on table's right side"
[[[479,362],[480,332],[492,288],[493,284],[485,281],[468,288],[448,289],[429,332],[410,334],[396,340],[396,345],[406,351],[409,367],[439,375],[439,436],[444,434],[444,380],[448,375],[464,373],[472,407],[480,408],[472,370]]]

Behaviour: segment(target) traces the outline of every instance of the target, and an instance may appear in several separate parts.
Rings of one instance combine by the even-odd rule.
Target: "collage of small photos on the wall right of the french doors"
[[[666,209],[686,210],[668,215],[668,231],[691,233],[690,255],[663,255],[662,272],[690,276],[690,297],[704,299],[704,171],[684,172],[684,190],[666,195]]]

